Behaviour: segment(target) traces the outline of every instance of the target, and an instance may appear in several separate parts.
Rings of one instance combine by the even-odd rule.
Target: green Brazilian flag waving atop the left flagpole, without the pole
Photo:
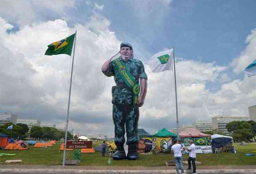
[[[44,55],[57,55],[57,54],[67,54],[71,56],[73,42],[75,40],[76,33],[61,39],[57,42],[53,42],[48,45],[48,49],[46,50]]]

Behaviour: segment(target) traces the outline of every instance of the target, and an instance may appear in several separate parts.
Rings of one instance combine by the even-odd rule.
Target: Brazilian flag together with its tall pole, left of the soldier
[[[70,84],[69,84],[67,120],[66,120],[65,140],[64,140],[64,153],[63,153],[63,160],[62,160],[63,167],[65,167],[65,160],[66,160],[67,129],[68,129],[68,119],[69,119],[69,106],[70,106],[70,94],[71,94],[71,84],[72,84],[72,75],[73,75],[73,66],[74,66],[74,56],[75,56],[75,48],[76,48],[76,33],[74,33],[73,35],[67,38],[59,40],[57,42],[53,42],[52,44],[48,45],[48,49],[45,52],[45,55],[50,55],[50,56],[57,55],[57,54],[67,54],[71,56],[73,43],[74,43],[74,50],[73,50],[71,77],[70,77]]]

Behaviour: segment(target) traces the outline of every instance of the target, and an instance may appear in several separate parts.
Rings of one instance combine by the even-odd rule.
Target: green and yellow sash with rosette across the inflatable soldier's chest
[[[122,61],[119,61],[118,59],[114,60],[114,64],[116,67],[116,70],[119,72],[122,80],[125,82],[127,86],[132,88],[133,91],[133,104],[138,103],[138,95],[140,93],[140,85],[135,81],[133,75],[125,70],[125,65]]]

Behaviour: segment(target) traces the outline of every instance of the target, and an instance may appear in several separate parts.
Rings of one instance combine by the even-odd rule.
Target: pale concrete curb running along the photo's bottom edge
[[[184,170],[185,173],[186,170]],[[176,174],[176,170],[72,170],[72,169],[0,169],[0,173],[18,172],[18,173],[133,173],[133,174]],[[197,170],[197,173],[256,173],[256,169],[217,169],[217,170]]]

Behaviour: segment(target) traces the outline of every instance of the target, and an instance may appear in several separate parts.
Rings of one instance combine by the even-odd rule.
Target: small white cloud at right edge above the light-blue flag
[[[256,28],[251,30],[251,33],[246,38],[247,47],[240,55],[234,59],[231,65],[234,67],[235,73],[242,72],[253,60],[256,59]]]

